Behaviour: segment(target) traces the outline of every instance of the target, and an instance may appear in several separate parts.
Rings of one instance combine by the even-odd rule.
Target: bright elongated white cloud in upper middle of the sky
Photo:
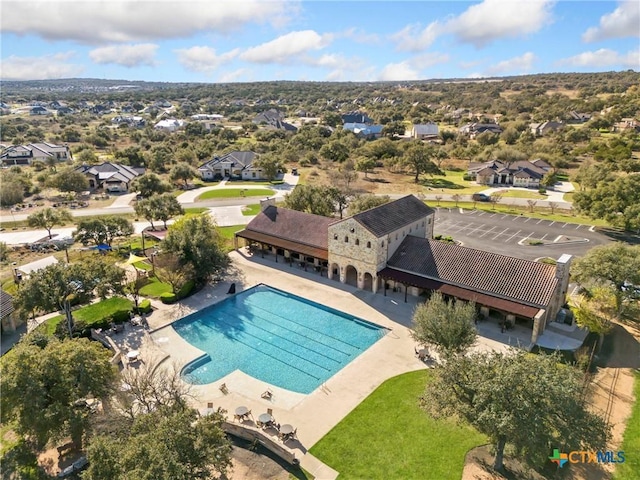
[[[252,63],[290,64],[302,54],[325,48],[331,40],[332,35],[320,35],[314,30],[289,32],[270,42],[249,48],[240,58]]]

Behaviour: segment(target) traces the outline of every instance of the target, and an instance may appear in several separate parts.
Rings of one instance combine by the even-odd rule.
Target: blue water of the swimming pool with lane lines
[[[311,393],[387,332],[266,285],[193,313],[173,328],[207,353],[183,369],[190,383],[212,383],[238,369],[299,393]]]

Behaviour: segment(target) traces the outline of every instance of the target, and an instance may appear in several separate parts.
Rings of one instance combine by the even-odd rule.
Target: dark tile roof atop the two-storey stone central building
[[[407,195],[357,213],[351,218],[380,238],[432,213],[434,213],[433,209],[427,207],[423,201],[413,195]]]

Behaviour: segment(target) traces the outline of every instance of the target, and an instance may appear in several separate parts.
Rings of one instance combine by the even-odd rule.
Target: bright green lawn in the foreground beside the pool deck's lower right
[[[430,373],[391,378],[310,450],[345,479],[459,480],[468,450],[487,439],[418,406]]]

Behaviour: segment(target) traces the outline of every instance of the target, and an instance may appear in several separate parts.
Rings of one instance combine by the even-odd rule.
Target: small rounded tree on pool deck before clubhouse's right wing
[[[411,336],[421,344],[434,345],[445,355],[463,353],[476,341],[475,317],[475,304],[447,302],[441,293],[434,292],[416,307]]]

